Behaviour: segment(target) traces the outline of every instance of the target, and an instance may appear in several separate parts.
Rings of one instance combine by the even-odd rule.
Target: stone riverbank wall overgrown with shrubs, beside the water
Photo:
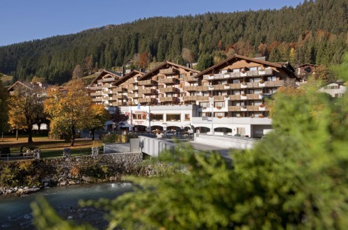
[[[142,153],[0,162],[0,188],[40,187],[120,181],[120,176],[139,174]]]

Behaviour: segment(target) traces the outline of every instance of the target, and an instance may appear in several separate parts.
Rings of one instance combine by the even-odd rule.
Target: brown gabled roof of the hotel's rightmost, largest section
[[[221,61],[220,63],[217,63],[216,65],[203,70],[198,75],[194,76],[194,78],[198,78],[200,76],[203,76],[203,75],[207,74],[207,72],[212,71],[214,69],[221,69],[226,64],[230,65],[232,62],[239,61],[239,60],[246,60],[246,61],[250,61],[250,62],[254,62],[254,63],[259,63],[259,64],[264,65],[264,66],[271,66],[274,68],[283,68],[284,70],[287,70],[287,72],[291,72],[292,75],[294,75],[294,72],[290,71],[290,70],[294,70],[294,68],[292,68],[290,63],[287,63],[287,65],[284,65],[285,63],[273,63],[273,62],[262,61],[260,59],[253,59],[253,58],[249,58],[247,56],[235,54],[233,56],[230,56],[228,59]]]

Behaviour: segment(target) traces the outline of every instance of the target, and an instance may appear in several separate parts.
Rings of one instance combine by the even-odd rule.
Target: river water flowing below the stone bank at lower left
[[[97,200],[99,198],[113,199],[118,195],[132,191],[131,183],[102,183],[89,185],[70,185],[50,187],[39,192],[26,194],[22,197],[0,197],[0,229],[34,229],[31,224],[30,204],[35,197],[43,195],[56,212],[65,219],[75,222],[88,222],[98,229],[106,227],[103,219],[104,210],[78,206],[78,201]]]

